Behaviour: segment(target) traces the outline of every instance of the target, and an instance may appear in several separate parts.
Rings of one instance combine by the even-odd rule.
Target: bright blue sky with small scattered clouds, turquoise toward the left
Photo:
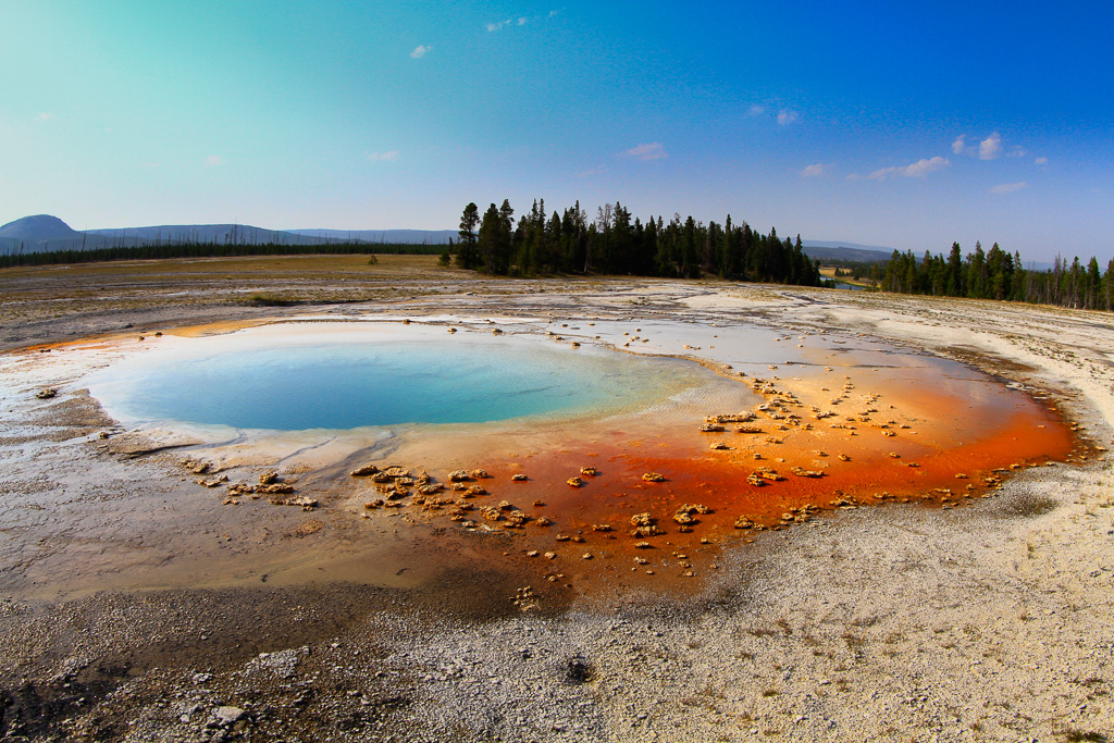
[[[1114,3],[0,0],[0,224],[619,202],[1114,257]]]

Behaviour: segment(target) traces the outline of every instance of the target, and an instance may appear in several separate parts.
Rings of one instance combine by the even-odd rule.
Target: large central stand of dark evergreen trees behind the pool
[[[465,207],[457,243],[457,265],[494,275],[612,274],[722,278],[820,285],[820,265],[795,241],[751,229],[729,215],[721,225],[706,225],[692,216],[674,214],[666,222],[642,222],[622,204],[600,206],[594,219],[580,203],[546,215],[545,199],[516,222],[504,199],[479,214],[476,204]],[[477,228],[478,227],[478,228]]]

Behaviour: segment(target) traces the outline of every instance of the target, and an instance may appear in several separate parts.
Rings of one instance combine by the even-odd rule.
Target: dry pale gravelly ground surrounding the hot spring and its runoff
[[[148,294],[146,274],[107,272],[77,283],[127,301],[72,311],[59,299],[72,282],[0,275],[4,343],[330,311],[316,302],[335,301],[336,286],[368,300],[345,311],[368,313],[841,327],[1053,390],[1097,448],[1086,462],[1026,470],[970,507],[846,510],[764,532],[725,555],[695,596],[567,597],[522,614],[497,574],[456,594],[0,593],[0,740],[1114,740],[1110,315],[723,283],[485,282],[433,268],[399,292],[390,266],[344,271],[300,285],[297,301],[314,304],[283,307],[231,296],[221,287],[236,282],[222,283],[219,268],[204,294],[196,276],[160,274]],[[102,423],[82,413],[8,431],[4,457],[35,437],[65,451]],[[26,482],[0,487],[33,501]]]

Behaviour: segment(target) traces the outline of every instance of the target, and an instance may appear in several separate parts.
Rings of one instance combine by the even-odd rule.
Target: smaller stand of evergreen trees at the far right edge
[[[911,251],[893,251],[881,287],[900,294],[1012,300],[1110,312],[1114,310],[1114,258],[1105,273],[1094,256],[1086,265],[1078,257],[1068,263],[1057,256],[1051,270],[1033,271],[1024,267],[1017,252],[1009,254],[997,243],[989,252],[975,243],[975,252],[967,255],[959,243],[952,243],[947,257],[926,252],[918,260]]]

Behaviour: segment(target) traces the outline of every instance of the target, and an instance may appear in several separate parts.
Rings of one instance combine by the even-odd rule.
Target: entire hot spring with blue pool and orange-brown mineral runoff
[[[12,580],[418,586],[497,569],[577,593],[687,590],[758,531],[839,508],[960,506],[1074,446],[1042,395],[853,334],[654,319],[499,326],[304,319],[27,359],[29,379],[39,365],[77,370],[59,398],[88,389],[119,426],[92,438],[97,467],[59,475],[67,490],[51,496],[85,493],[94,511],[52,509],[56,525],[0,504],[25,530]],[[349,475],[363,465],[444,490]],[[252,493],[272,469],[316,510]],[[488,477],[467,485],[482,492],[452,489],[450,472],[477,469]],[[116,482],[126,498],[99,497]],[[701,510],[677,520],[685,505]],[[639,519],[657,532],[634,536]]]

